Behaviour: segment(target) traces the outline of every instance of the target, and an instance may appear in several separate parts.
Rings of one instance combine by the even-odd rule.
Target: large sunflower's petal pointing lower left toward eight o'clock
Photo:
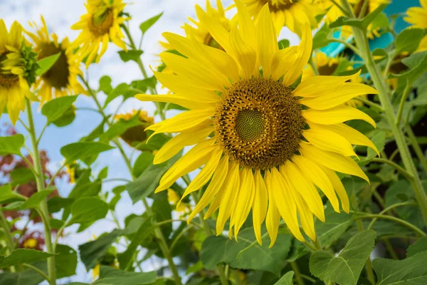
[[[215,140],[213,139],[200,142],[179,158],[163,175],[155,193],[167,190],[179,177],[204,165],[209,160],[212,152],[218,148],[218,145],[213,145],[214,142]]]

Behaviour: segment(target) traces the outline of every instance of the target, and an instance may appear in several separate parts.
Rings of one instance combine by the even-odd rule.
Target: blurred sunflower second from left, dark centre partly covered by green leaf
[[[26,31],[35,45],[34,51],[38,53],[38,59],[60,53],[56,63],[36,81],[35,87],[39,88],[41,103],[64,95],[85,94],[85,88],[77,80],[78,75],[83,75],[79,68],[79,61],[68,49],[70,41],[65,37],[59,42],[55,33],[49,33],[43,16],[41,16],[41,23],[40,28],[36,22],[29,23],[36,29],[36,33]]]

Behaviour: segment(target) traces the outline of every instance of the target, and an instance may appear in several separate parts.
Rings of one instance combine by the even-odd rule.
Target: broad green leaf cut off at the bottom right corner
[[[427,252],[404,260],[377,258],[372,268],[378,277],[377,285],[427,284]]]

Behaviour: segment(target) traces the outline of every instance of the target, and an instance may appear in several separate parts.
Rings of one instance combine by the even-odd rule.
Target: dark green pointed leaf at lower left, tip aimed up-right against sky
[[[101,237],[98,237],[91,242],[86,242],[85,244],[80,244],[78,246],[80,259],[83,264],[85,264],[86,270],[93,269],[93,267],[95,267],[97,259],[108,252],[111,244],[115,242],[115,239],[117,239],[120,234],[120,230],[115,229],[108,234],[103,234]]]

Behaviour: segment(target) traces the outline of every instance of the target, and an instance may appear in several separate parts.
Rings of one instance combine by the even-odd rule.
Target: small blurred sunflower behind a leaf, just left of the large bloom
[[[115,115],[114,117],[116,121],[129,121],[135,119],[136,116],[136,120],[138,120],[140,124],[128,128],[127,130],[125,130],[125,133],[122,133],[122,135],[120,135],[120,138],[122,138],[122,140],[125,140],[125,142],[130,146],[133,146],[139,142],[143,142],[147,139],[147,133],[145,132],[145,128],[154,123],[154,118],[150,117],[148,113],[143,110],[133,110],[130,113],[119,114]]]

